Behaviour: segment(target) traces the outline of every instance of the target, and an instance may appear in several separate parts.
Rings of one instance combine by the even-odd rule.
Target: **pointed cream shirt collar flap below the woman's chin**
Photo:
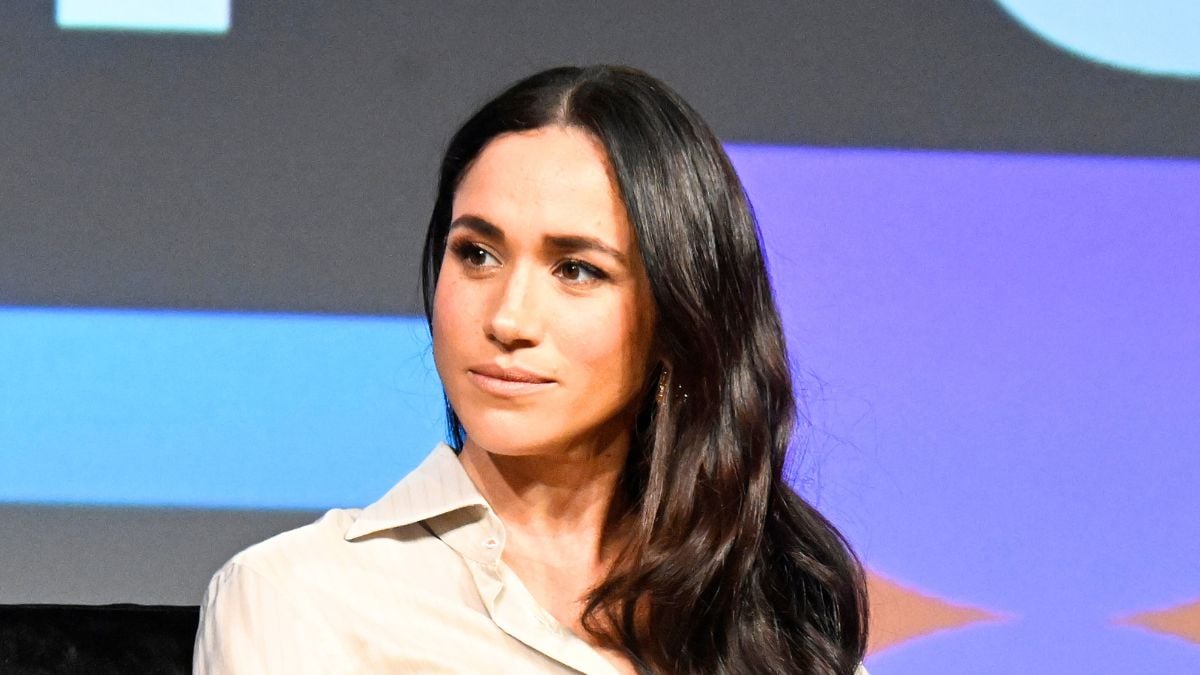
[[[491,509],[467,476],[458,455],[450,446],[438,443],[420,466],[379,501],[362,509],[347,528],[346,539],[430,520],[467,507]]]

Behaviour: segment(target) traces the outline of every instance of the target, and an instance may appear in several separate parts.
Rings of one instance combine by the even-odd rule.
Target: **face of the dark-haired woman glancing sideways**
[[[433,357],[469,444],[624,448],[654,306],[605,153],[550,126],[490,142],[455,192]]]

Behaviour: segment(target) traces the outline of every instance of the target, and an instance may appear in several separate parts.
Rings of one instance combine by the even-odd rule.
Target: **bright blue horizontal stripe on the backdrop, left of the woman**
[[[0,309],[0,501],[362,506],[442,438],[425,321]]]

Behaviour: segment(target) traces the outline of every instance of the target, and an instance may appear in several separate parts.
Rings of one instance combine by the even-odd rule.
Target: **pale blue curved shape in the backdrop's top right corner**
[[[1195,0],[996,0],[1026,29],[1078,56],[1128,71],[1200,77]]]

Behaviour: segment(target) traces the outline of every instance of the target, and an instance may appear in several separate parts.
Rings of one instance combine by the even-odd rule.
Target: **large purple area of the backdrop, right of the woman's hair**
[[[874,569],[1004,613],[888,673],[1200,673],[1200,162],[733,147]]]

